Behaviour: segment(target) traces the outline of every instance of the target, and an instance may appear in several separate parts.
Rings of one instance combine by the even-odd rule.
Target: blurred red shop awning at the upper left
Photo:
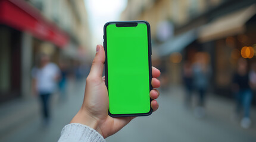
[[[64,47],[69,41],[67,33],[23,0],[0,0],[0,24],[28,31],[40,40],[49,41],[58,47]]]

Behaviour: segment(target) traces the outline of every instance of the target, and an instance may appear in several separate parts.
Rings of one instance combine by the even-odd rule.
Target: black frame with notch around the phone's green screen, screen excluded
[[[108,89],[108,58],[107,58],[107,26],[110,24],[119,24],[120,27],[135,27],[135,24],[144,22],[147,27],[148,31],[148,67],[149,67],[149,92],[153,89],[151,85],[151,80],[152,80],[152,61],[151,61],[151,55],[152,55],[152,50],[151,50],[151,32],[150,32],[150,25],[147,21],[111,21],[107,22],[104,25],[104,35],[103,35],[103,46],[105,50],[105,84]],[[137,26],[137,25],[136,25]],[[117,26],[118,27],[118,26]],[[151,105],[152,99],[150,98],[150,105]],[[139,116],[148,116],[151,115],[153,112],[153,109],[150,106],[149,112],[146,113],[139,113],[139,114],[111,114],[110,109],[108,108],[108,115],[111,117],[139,117]]]

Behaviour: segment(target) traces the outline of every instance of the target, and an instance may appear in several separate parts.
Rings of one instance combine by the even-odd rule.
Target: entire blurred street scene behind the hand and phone
[[[255,142],[255,0],[0,0],[0,141],[58,141],[110,43],[104,24],[138,20],[160,107],[106,140]]]

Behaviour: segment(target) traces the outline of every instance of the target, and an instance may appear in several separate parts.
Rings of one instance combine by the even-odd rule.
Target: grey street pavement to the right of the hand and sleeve
[[[149,117],[138,117],[107,141],[256,141],[255,108],[252,128],[244,130],[239,121],[231,121],[233,101],[209,94],[206,116],[196,118],[193,108],[183,104],[182,86],[171,86],[157,99],[158,110]]]

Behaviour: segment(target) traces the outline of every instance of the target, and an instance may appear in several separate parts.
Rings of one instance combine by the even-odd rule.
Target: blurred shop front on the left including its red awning
[[[30,71],[35,52],[61,50],[68,42],[67,33],[26,1],[1,0],[0,103],[30,96]]]

